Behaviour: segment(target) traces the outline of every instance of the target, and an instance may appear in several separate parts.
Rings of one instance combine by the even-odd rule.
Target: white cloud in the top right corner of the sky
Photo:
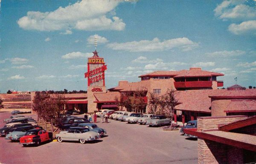
[[[225,0],[214,9],[215,16],[223,20],[255,18],[255,7],[250,7],[243,3],[244,1],[239,0]]]

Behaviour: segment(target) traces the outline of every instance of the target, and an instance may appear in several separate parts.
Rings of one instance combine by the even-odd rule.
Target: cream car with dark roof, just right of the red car
[[[58,142],[79,141],[81,144],[84,144],[85,141],[98,139],[99,134],[85,127],[72,127],[68,131],[61,131],[59,134],[56,134],[56,138]]]

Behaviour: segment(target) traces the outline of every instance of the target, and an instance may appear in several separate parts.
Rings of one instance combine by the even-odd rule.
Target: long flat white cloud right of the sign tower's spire
[[[153,40],[140,40],[126,43],[109,43],[108,48],[114,50],[124,50],[130,52],[156,52],[166,51],[174,48],[182,51],[189,51],[198,47],[199,43],[195,43],[186,37],[164,40],[161,42],[157,37]]]

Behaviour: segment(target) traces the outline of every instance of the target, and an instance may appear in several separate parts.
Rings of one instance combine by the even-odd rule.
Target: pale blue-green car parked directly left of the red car
[[[33,126],[17,127],[16,129],[10,130],[9,134],[6,135],[7,140],[19,141],[27,131],[35,129]]]

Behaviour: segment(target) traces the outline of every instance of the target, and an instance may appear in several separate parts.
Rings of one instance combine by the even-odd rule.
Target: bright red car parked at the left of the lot
[[[47,132],[44,129],[32,129],[20,138],[20,144],[26,147],[28,144],[40,145],[41,142],[52,141],[52,132]]]

